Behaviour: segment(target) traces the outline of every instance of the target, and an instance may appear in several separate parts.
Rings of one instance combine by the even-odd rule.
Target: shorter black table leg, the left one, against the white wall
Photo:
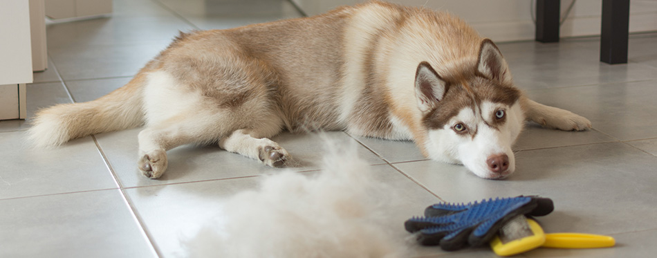
[[[561,1],[536,1],[536,41],[559,42],[559,12]]]

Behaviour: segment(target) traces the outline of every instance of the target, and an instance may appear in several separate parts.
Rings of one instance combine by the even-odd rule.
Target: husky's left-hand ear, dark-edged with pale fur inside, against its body
[[[446,90],[445,81],[427,62],[421,62],[415,73],[415,95],[420,111],[427,112],[443,100]]]

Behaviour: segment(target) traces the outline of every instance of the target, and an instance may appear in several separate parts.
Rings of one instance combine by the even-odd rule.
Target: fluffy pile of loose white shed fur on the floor
[[[232,196],[187,248],[192,257],[398,257],[401,224],[384,223],[390,192],[355,147],[331,147],[319,175],[283,172]]]

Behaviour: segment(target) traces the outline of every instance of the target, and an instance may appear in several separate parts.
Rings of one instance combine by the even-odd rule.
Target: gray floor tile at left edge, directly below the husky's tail
[[[33,149],[24,131],[0,133],[0,199],[118,187],[91,137]]]

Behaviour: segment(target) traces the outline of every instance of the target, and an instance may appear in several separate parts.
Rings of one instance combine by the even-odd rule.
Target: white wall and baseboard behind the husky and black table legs
[[[317,15],[336,6],[364,0],[292,0],[308,15]],[[497,42],[534,39],[531,1],[527,0],[391,0],[407,6],[447,10],[468,21],[479,33]],[[571,0],[561,3],[562,15]],[[601,0],[577,0],[561,27],[561,37],[600,35]],[[563,18],[563,17],[562,17]],[[657,1],[630,1],[631,33],[657,31]]]

